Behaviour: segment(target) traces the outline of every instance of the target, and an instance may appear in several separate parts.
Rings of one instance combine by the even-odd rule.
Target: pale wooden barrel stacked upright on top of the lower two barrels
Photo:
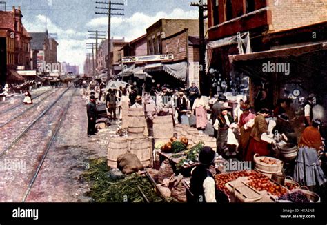
[[[143,136],[146,130],[146,117],[143,108],[130,108],[128,110],[128,135]]]

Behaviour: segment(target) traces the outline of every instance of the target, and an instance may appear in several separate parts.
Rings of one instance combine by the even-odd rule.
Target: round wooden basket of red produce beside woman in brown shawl
[[[269,165],[265,164],[264,162],[260,162],[261,159],[268,158],[275,160],[276,164]],[[273,157],[260,157],[258,154],[255,154],[254,156],[255,161],[255,170],[259,171],[260,173],[263,173],[267,177],[271,178],[273,176],[273,173],[281,173],[281,170],[283,169],[283,162],[279,159],[275,159]]]

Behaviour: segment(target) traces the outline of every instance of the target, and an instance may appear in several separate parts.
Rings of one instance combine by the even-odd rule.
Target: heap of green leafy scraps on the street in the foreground
[[[105,157],[90,160],[90,168],[80,179],[90,183],[86,196],[92,198],[91,202],[165,202],[148,177],[112,175]]]

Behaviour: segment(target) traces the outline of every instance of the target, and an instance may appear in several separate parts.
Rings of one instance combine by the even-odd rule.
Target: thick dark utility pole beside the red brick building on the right
[[[208,95],[210,88],[208,87],[208,79],[206,77],[206,46],[204,41],[204,19],[208,16],[204,15],[204,12],[208,10],[208,5],[204,4],[203,0],[199,0],[198,3],[192,2],[191,6],[199,8],[199,38],[200,38],[200,66],[199,66],[199,75],[200,75],[200,90],[204,95]]]

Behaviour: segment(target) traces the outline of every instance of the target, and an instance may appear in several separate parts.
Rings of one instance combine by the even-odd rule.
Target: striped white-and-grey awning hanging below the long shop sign
[[[147,65],[144,71],[146,72],[164,71],[167,72],[172,77],[175,77],[180,81],[185,82],[188,75],[188,63],[185,61],[181,63],[174,63],[174,64],[155,63],[155,64]]]

